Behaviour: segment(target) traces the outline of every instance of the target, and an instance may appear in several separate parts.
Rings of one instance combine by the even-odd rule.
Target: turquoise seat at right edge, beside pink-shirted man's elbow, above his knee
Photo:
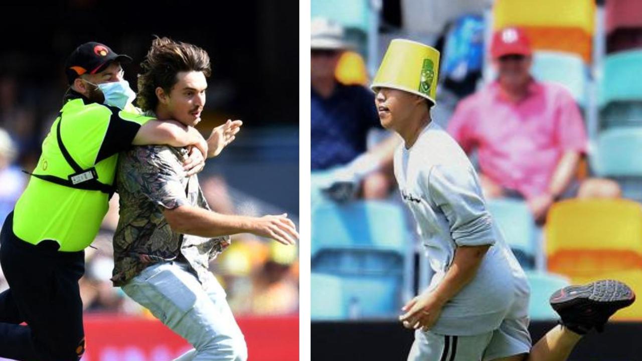
[[[602,177],[642,177],[642,128],[600,132],[591,167]]]

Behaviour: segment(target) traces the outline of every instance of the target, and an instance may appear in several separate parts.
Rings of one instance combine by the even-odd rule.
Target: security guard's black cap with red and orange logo
[[[116,54],[107,45],[100,44],[100,42],[85,42],[85,44],[78,46],[65,62],[65,73],[67,73],[69,84],[73,83],[74,79],[80,75],[96,74],[103,71],[114,60],[128,63],[132,61],[132,58]]]

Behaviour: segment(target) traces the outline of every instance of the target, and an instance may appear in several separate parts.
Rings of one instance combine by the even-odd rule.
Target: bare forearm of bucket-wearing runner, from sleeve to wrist
[[[453,264],[433,291],[441,304],[446,304],[473,280],[489,247],[489,245],[482,245],[457,248]]]

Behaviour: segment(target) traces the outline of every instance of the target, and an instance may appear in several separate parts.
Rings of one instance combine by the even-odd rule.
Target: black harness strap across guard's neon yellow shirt
[[[56,177],[55,175],[42,175],[42,174],[34,174],[30,172],[26,172],[23,170],[22,172],[33,175],[33,177],[46,180],[48,182],[52,182],[55,184],[59,184],[60,186],[65,186],[69,188],[75,188],[75,189],[83,189],[86,191],[101,191],[103,193],[107,193],[109,197],[111,198],[112,195],[114,194],[114,186],[110,186],[108,184],[104,184],[98,181],[98,173],[96,173],[96,168],[91,167],[89,169],[83,169],[81,166],[74,161],[73,157],[71,157],[71,154],[69,154],[69,151],[67,151],[67,148],[65,147],[64,143],[62,143],[62,137],[60,137],[60,123],[62,123],[62,112],[58,114],[58,117],[60,118],[58,120],[58,127],[56,128],[56,139],[58,140],[58,148],[60,148],[60,152],[62,153],[62,156],[65,157],[65,161],[67,161],[67,164],[73,168],[74,172],[73,174],[69,175],[67,179],[63,179],[60,177]]]

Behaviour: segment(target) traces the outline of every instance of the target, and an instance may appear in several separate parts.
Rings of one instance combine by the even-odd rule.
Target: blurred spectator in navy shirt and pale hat
[[[392,186],[392,154],[397,137],[368,152],[367,136],[381,128],[374,94],[361,85],[336,80],[336,67],[345,49],[343,28],[328,19],[311,22],[311,168],[333,170],[321,186],[333,198],[345,200],[361,187],[363,198],[385,198]],[[335,191],[348,185],[350,191]]]

